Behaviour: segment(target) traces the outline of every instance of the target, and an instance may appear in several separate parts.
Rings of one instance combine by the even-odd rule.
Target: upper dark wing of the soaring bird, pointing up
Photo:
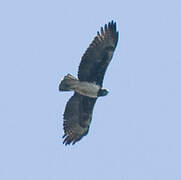
[[[78,78],[80,81],[95,82],[102,86],[104,74],[109,65],[118,42],[116,23],[109,22],[101,27],[82,57]]]

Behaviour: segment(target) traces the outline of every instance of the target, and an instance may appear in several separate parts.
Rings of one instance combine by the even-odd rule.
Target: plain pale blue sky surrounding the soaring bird
[[[59,81],[111,20],[110,93],[64,146]],[[180,180],[181,1],[1,1],[0,92],[1,180]]]

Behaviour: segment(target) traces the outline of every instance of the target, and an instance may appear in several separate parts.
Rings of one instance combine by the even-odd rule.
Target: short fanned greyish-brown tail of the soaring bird
[[[59,85],[59,91],[72,91],[78,82],[77,78],[71,74],[67,74]]]

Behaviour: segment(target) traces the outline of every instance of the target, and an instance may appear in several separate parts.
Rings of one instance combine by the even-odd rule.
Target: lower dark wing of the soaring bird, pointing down
[[[65,108],[63,123],[65,133],[63,143],[65,145],[75,144],[88,133],[95,102],[95,98],[82,96],[78,93],[74,93],[69,99]]]

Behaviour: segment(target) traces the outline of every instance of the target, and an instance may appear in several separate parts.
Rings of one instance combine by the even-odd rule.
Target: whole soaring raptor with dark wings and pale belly
[[[75,144],[87,135],[98,97],[108,94],[103,89],[106,69],[118,42],[116,22],[111,21],[100,28],[81,58],[78,78],[67,74],[59,84],[59,91],[74,91],[63,114],[65,145]]]

